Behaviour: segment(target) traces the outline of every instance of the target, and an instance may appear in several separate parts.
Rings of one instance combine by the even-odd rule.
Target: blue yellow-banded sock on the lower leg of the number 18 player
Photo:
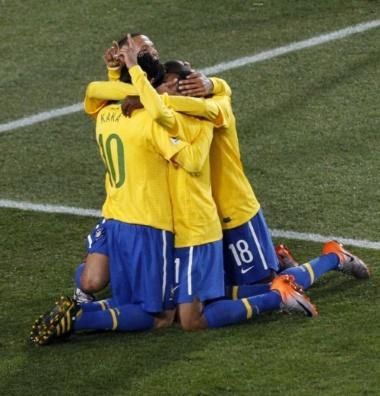
[[[295,277],[296,283],[304,289],[310,287],[317,279],[326,272],[335,270],[339,265],[339,257],[335,253],[323,254],[299,267],[289,268],[281,272],[281,275],[289,274]]]

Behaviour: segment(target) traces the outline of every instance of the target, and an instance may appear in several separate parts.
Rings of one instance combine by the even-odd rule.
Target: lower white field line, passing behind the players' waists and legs
[[[21,210],[28,210],[35,212],[44,212],[44,213],[70,214],[70,215],[84,216],[84,217],[96,217],[96,218],[101,217],[101,212],[96,209],[75,208],[71,206],[61,206],[61,205],[34,204],[31,202],[12,201],[5,199],[0,199],[0,207],[21,209]],[[344,238],[334,235],[325,236],[320,234],[311,234],[311,233],[286,231],[286,230],[271,230],[271,232],[272,232],[272,236],[275,238],[297,239],[301,241],[310,241],[310,242],[326,242],[330,239],[337,239],[338,241],[342,242],[345,245],[357,246],[366,249],[380,250],[380,242]]]

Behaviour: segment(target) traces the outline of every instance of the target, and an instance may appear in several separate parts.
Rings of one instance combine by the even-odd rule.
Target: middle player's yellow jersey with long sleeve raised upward
[[[129,69],[132,83],[146,111],[157,123],[190,143],[169,166],[175,246],[196,246],[222,238],[212,198],[209,151],[213,124],[173,111],[156,92],[139,66]],[[179,166],[176,166],[179,165]]]

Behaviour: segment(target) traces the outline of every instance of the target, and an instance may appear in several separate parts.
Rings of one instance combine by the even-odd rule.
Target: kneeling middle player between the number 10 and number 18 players
[[[233,324],[250,319],[253,313],[279,309],[284,304],[309,316],[317,315],[315,307],[289,276],[277,278],[271,290],[263,295],[204,306],[206,301],[224,296],[220,223],[210,188],[210,131],[199,131],[198,136],[189,132],[193,123],[200,121],[190,117],[184,122],[183,117],[165,106],[136,65],[133,41],[129,40],[128,44],[122,52],[142,104],[155,121],[169,131],[179,132],[193,146],[199,145],[199,156],[203,158],[201,168],[189,168],[180,152],[174,158],[180,167],[169,166],[176,247],[175,301],[182,328],[200,330]],[[178,61],[166,63],[165,68],[166,79],[184,78],[191,73],[189,66]]]

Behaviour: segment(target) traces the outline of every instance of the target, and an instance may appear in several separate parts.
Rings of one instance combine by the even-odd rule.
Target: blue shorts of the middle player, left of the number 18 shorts
[[[176,304],[224,296],[222,241],[175,249],[173,296]]]

